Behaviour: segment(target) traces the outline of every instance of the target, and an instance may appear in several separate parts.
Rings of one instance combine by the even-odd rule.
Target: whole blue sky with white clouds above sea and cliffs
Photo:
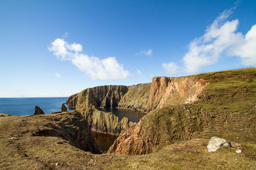
[[[256,1],[0,1],[0,97],[256,66]]]

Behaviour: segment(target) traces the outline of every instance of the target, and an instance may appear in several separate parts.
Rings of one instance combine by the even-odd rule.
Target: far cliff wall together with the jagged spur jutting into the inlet
[[[148,113],[169,105],[193,103],[209,84],[195,77],[155,77],[151,83],[134,86],[99,86],[69,97],[67,103],[81,112],[93,131],[118,135],[131,123],[119,121],[112,113],[99,112],[98,107],[119,107]],[[125,128],[122,128],[125,127]]]

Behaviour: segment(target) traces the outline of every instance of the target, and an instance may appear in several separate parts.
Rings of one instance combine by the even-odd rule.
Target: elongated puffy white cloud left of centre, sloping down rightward
[[[48,49],[59,60],[71,61],[79,70],[85,72],[93,80],[117,80],[127,79],[129,71],[124,70],[123,65],[116,61],[115,57],[100,60],[98,57],[81,54],[81,44],[68,44],[63,39],[55,39]]]

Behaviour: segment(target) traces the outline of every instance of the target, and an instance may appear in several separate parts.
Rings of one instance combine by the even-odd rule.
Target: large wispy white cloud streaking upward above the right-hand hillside
[[[238,19],[227,21],[236,6],[223,11],[206,29],[202,37],[189,44],[189,51],[183,56],[183,66],[164,63],[169,74],[197,73],[203,67],[219,62],[223,56],[238,56],[246,66],[256,65],[256,24],[244,36],[237,32]]]

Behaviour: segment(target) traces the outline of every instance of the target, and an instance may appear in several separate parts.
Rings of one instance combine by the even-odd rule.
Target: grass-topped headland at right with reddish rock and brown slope
[[[256,68],[197,74],[176,81],[154,79],[148,108],[156,109],[122,132],[110,153],[148,154],[174,142],[213,136],[237,142],[255,140]]]

